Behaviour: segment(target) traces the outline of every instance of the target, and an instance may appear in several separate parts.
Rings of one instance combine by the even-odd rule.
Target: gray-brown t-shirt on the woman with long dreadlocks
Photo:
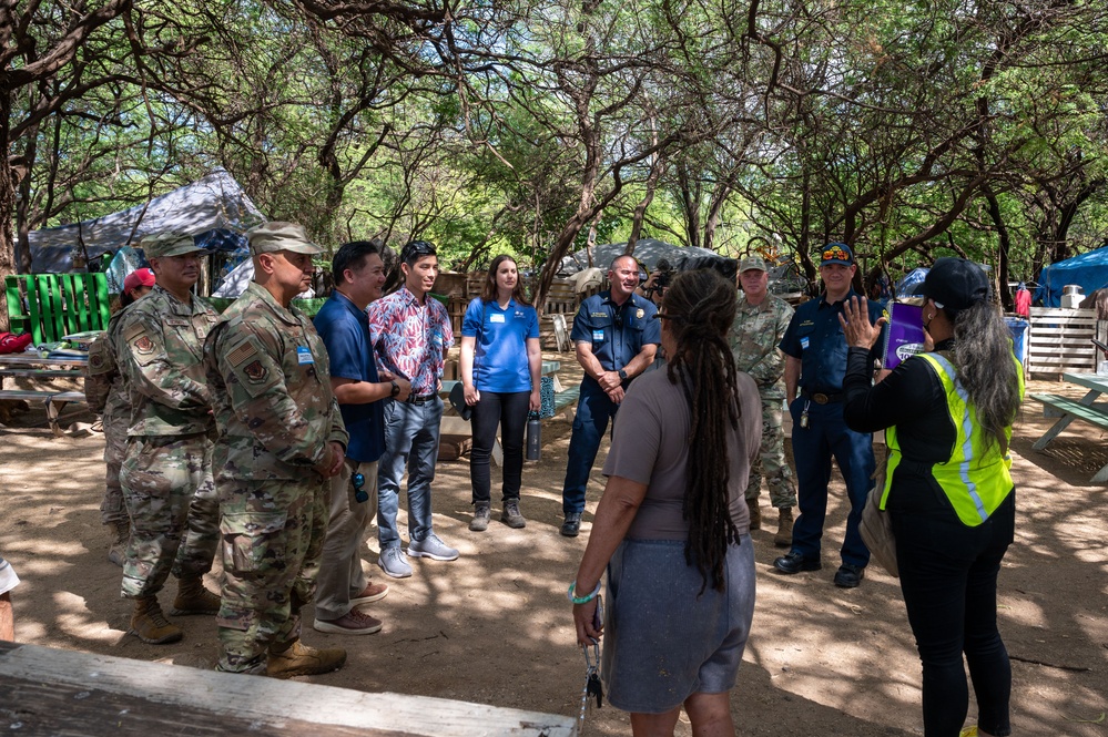
[[[690,407],[680,385],[670,383],[668,371],[640,376],[629,388],[616,414],[611,450],[604,475],[618,475],[647,484],[628,538],[687,540],[689,523],[681,508],[689,463]],[[762,402],[758,385],[739,373],[739,428],[729,433],[731,475],[728,492],[731,520],[743,534],[750,529],[750,512],[743,500],[751,460],[762,439]]]

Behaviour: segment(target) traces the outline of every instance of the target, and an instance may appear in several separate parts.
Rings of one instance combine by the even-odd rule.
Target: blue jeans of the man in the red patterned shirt
[[[380,549],[400,546],[396,529],[400,481],[408,471],[408,539],[431,533],[430,484],[438,462],[443,400],[426,405],[390,401],[385,406],[385,453],[377,462],[377,540]]]

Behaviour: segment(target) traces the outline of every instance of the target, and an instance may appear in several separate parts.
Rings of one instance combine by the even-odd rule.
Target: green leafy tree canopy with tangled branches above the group
[[[541,291],[647,235],[1003,286],[1106,239],[1106,61],[1089,0],[8,2],[0,272],[223,166],[329,246],[509,252]]]

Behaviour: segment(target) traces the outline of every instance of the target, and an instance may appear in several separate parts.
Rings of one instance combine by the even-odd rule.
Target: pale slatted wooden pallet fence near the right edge
[[[1028,364],[1033,375],[1092,373],[1099,351],[1092,338],[1105,340],[1108,323],[1091,309],[1033,307]],[[1043,378],[1043,377],[1040,377]]]

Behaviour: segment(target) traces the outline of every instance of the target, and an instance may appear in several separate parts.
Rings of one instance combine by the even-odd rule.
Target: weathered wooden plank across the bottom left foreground
[[[0,730],[62,737],[575,737],[577,720],[0,642]]]

